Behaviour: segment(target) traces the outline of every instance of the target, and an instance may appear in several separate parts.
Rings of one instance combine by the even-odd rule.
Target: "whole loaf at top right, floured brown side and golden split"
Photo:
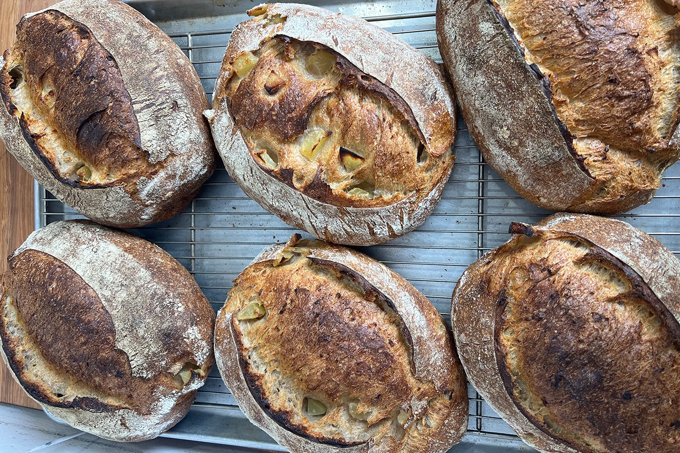
[[[651,200],[680,154],[680,10],[668,3],[438,1],[462,116],[522,197],[592,214]]]

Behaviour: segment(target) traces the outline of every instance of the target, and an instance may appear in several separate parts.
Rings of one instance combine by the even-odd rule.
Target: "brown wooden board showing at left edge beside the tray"
[[[54,0],[0,1],[0,52],[14,43],[15,26],[23,14],[54,3]],[[7,255],[31,234],[33,225],[33,178],[0,142],[0,272],[7,270]],[[0,401],[40,407],[16,384],[5,365],[0,365]]]

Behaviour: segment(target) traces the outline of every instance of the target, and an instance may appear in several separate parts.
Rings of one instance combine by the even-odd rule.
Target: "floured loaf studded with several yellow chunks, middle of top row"
[[[205,112],[231,178],[284,222],[339,244],[422,224],[454,164],[455,107],[435,62],[318,7],[248,14]]]

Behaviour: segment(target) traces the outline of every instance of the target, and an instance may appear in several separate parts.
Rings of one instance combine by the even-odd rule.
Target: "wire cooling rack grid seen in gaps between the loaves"
[[[434,10],[364,18],[441,63]],[[197,69],[210,100],[230,34],[231,28],[171,33]],[[403,275],[449,323],[452,291],[464,269],[509,239],[510,222],[535,223],[551,214],[522,199],[483,161],[462,118],[458,118],[454,152],[454,171],[439,205],[422,227],[386,244],[359,248]],[[617,218],[647,231],[680,256],[679,208],[680,165],[675,165],[666,171],[651,203]],[[81,217],[41,187],[37,212],[40,226]],[[232,280],[262,248],[286,241],[296,232],[245,195],[222,165],[182,214],[131,230],[175,256],[216,310],[224,303]],[[216,369],[197,393],[194,406],[232,411],[237,407]],[[469,435],[515,437],[472,386],[469,415]]]

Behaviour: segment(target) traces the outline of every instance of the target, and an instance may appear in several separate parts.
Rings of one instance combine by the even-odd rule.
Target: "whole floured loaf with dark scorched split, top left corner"
[[[196,71],[118,0],[67,0],[24,16],[0,58],[0,97],[7,150],[97,222],[171,218],[214,170]]]

